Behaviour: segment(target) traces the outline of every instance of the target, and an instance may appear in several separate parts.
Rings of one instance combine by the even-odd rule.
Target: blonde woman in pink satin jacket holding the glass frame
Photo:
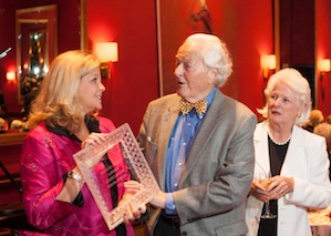
[[[103,138],[101,133],[115,129],[110,120],[96,116],[104,91],[100,62],[91,54],[69,51],[55,58],[32,104],[21,176],[28,219],[44,229],[41,235],[134,235],[131,224],[108,230],[73,160],[82,146],[93,147]],[[96,170],[107,204],[115,207],[127,193],[124,182],[130,179],[120,147],[86,164]],[[113,176],[106,170],[112,170]],[[110,177],[116,179],[111,189]],[[128,209],[124,223],[144,212],[145,206]]]

